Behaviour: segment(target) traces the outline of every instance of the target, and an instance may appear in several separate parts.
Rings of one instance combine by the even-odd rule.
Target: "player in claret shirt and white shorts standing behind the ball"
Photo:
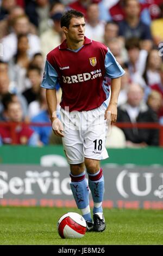
[[[99,161],[108,158],[105,148],[106,114],[110,112],[111,122],[116,122],[120,77],[124,70],[106,46],[84,37],[85,19],[82,13],[67,11],[61,18],[61,27],[66,40],[48,53],[41,86],[46,88],[54,133],[62,137],[71,170],[70,186],[87,223],[87,231],[103,231],[104,176]],[[111,78],[109,105],[107,77]],[[62,89],[61,121],[56,112],[57,82]],[[94,203],[93,221],[89,188]]]

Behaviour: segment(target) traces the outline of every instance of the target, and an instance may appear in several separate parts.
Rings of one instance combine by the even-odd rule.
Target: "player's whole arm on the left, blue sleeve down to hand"
[[[52,122],[53,132],[57,136],[64,137],[62,123],[57,117],[57,96],[55,86],[57,84],[58,74],[52,65],[46,60],[45,70],[41,87],[46,89],[46,100],[48,105],[49,117]]]

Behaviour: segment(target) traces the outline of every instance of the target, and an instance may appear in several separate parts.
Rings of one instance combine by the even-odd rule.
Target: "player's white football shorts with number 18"
[[[105,106],[89,111],[66,111],[60,109],[64,126],[65,154],[69,164],[79,164],[85,158],[102,160],[108,158],[105,148],[106,120]]]

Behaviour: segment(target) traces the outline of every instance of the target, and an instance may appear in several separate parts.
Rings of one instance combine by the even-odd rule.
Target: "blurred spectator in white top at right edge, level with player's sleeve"
[[[161,68],[161,57],[157,49],[152,49],[147,56],[145,72],[143,73],[143,79],[146,84],[152,86],[154,84],[160,84],[160,68]]]

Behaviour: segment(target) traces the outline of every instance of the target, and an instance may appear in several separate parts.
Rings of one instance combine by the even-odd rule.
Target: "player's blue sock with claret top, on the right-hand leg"
[[[103,212],[102,201],[104,195],[104,176],[102,168],[96,174],[89,175],[89,187],[92,193],[92,199],[94,203],[93,214],[97,212]]]

